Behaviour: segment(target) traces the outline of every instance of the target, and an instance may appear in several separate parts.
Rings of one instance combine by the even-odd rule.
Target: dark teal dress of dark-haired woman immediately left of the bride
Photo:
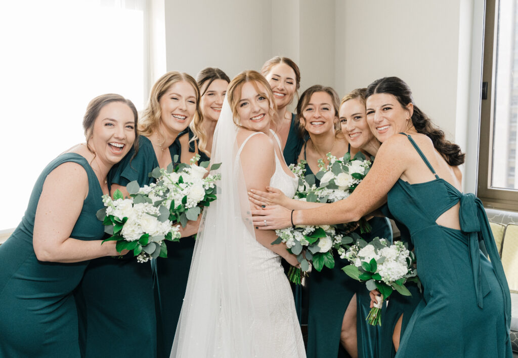
[[[187,132],[183,132],[184,135]],[[171,158],[181,154],[179,137],[171,149]],[[192,132],[189,131],[189,139]],[[192,143],[192,142],[190,142]],[[194,153],[194,145],[192,151]],[[203,153],[200,153],[200,156]],[[210,160],[205,154],[200,161]],[[194,236],[181,238],[180,241],[167,241],[167,258],[155,260],[153,263],[153,286],[156,308],[156,340],[157,357],[168,358],[171,354],[172,341],[175,338],[176,326],[180,318],[191,260],[194,253]]]

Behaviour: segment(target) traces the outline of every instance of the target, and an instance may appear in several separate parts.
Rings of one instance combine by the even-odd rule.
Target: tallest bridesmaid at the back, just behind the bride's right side
[[[294,164],[304,140],[297,133],[296,115],[290,113],[287,107],[293,102],[295,93],[300,88],[300,70],[293,60],[276,56],[264,63],[261,74],[274,92],[277,116],[279,120],[282,119],[280,125],[272,122],[271,129],[281,141],[286,164]]]

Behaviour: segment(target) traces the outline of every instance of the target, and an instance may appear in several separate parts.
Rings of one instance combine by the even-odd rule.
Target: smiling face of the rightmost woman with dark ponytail
[[[389,93],[376,93],[367,98],[367,122],[370,130],[383,143],[392,135],[405,132],[411,121],[413,105],[401,106]]]

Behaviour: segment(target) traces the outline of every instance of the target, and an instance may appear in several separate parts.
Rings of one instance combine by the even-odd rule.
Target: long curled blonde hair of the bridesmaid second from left
[[[139,120],[138,129],[140,134],[149,136],[154,131],[156,131],[160,122],[162,121],[162,109],[160,107],[160,99],[167,92],[167,90],[174,85],[176,82],[185,81],[188,82],[196,93],[196,113],[189,124],[189,128],[194,133],[193,139],[200,139],[200,141],[206,141],[206,133],[202,127],[203,115],[202,109],[199,107],[200,100],[200,92],[198,88],[198,84],[196,80],[189,74],[184,72],[171,71],[160,77],[153,87],[151,88],[151,93],[149,94],[148,106],[143,111],[142,116]],[[162,144],[165,142],[163,140]]]

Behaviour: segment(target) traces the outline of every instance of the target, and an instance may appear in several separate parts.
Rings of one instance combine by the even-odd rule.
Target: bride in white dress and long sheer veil
[[[270,132],[275,102],[265,78],[243,71],[229,84],[212,146],[222,163],[218,199],[205,211],[171,357],[305,357],[281,257],[298,265],[274,230],[252,226],[250,189],[293,197],[298,180]],[[264,223],[268,225],[267,222]]]

